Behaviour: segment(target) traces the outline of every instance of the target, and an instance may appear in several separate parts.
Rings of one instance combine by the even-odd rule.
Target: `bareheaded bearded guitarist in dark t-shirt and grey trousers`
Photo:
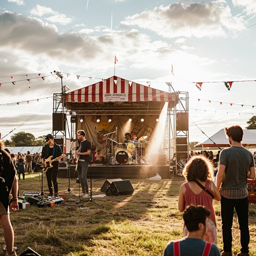
[[[90,154],[90,141],[85,139],[85,132],[84,130],[77,130],[76,132],[77,138],[80,141],[80,147],[78,150],[75,150],[75,154],[78,155],[78,162],[77,162],[77,171],[78,177],[81,183],[82,192],[79,196],[83,198],[88,198],[89,188],[88,182],[86,179],[88,163],[89,163],[89,154]]]

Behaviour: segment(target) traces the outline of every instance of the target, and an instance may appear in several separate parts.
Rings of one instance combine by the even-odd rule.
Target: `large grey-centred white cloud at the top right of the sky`
[[[228,6],[212,2],[161,5],[153,10],[128,16],[120,22],[121,26],[137,25],[167,38],[224,36],[224,29],[233,31],[233,24],[236,29],[244,28],[242,17],[233,17]]]

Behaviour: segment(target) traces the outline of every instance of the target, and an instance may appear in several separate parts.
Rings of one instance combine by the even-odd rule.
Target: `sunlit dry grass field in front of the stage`
[[[30,246],[41,256],[81,255],[161,255],[165,244],[182,237],[182,214],[177,209],[178,191],[183,177],[150,181],[130,179],[132,195],[95,197],[93,202],[76,203],[79,184],[58,178],[65,203],[54,207],[30,205],[11,212],[17,254]],[[103,194],[104,180],[92,180],[92,195]],[[40,175],[26,175],[19,180],[19,192],[41,191]],[[90,183],[89,183],[90,186]],[[46,179],[43,191],[47,193]],[[103,208],[94,202],[99,203]],[[89,207],[83,209],[82,207]],[[222,248],[220,204],[214,202],[217,218],[218,246]],[[249,205],[250,255],[256,255],[256,205]],[[1,247],[4,246],[0,229]],[[233,221],[233,255],[239,251],[239,229]],[[3,254],[0,252],[0,255]]]

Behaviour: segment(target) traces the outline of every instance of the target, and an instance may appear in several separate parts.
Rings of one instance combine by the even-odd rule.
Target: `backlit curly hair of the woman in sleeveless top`
[[[193,156],[185,164],[182,171],[183,176],[187,181],[194,181],[199,179],[205,181],[207,179],[213,180],[213,165],[203,156]]]

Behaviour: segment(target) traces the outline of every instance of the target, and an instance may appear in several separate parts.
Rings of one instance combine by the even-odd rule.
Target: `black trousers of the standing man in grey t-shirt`
[[[229,199],[221,196],[221,219],[222,219],[222,239],[223,250],[232,251],[232,223],[233,211],[235,209],[239,229],[240,229],[240,243],[241,252],[249,252],[249,227],[248,227],[248,197],[241,199]]]

